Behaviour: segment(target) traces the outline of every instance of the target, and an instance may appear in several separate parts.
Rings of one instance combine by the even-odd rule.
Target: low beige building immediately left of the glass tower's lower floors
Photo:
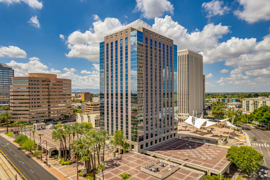
[[[100,111],[95,112],[85,112],[85,113],[76,113],[76,122],[91,122],[93,127],[100,126]]]

